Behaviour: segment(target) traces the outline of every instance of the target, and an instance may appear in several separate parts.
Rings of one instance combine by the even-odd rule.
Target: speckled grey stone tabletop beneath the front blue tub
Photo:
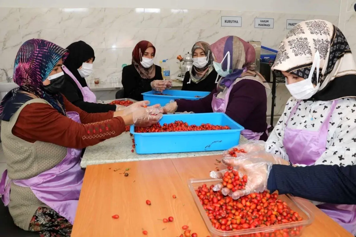
[[[120,136],[110,138],[104,142],[100,142],[95,146],[87,147],[80,166],[82,168],[87,165],[129,162],[137,160],[153,160],[166,158],[184,158],[198,157],[222,154],[223,151],[211,152],[188,152],[188,153],[164,153],[164,154],[142,154],[131,152],[132,138],[129,132],[122,133]],[[240,137],[240,142],[246,141],[246,138]]]

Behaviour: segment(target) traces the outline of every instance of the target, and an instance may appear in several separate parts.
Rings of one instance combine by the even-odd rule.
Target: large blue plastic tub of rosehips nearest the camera
[[[230,130],[188,131],[188,132],[151,132],[137,133],[131,125],[130,133],[135,138],[137,154],[177,153],[221,151],[239,144],[240,133],[244,127],[224,113],[207,114],[169,114],[163,115],[159,123],[171,123],[176,120],[188,125],[227,125]]]

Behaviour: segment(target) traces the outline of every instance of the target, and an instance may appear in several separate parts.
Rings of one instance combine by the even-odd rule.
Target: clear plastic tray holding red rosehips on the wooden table
[[[195,189],[197,189],[199,186],[206,184],[206,186],[210,186],[211,184],[217,184],[222,182],[222,179],[189,179],[188,180],[188,186],[190,189],[190,192],[193,195],[195,204],[197,205],[201,216],[203,217],[203,220],[205,222],[206,227],[208,227],[208,230],[211,234],[211,237],[225,237],[225,236],[240,236],[240,237],[248,237],[248,236],[256,236],[256,233],[261,233],[261,235],[258,236],[264,236],[262,233],[272,233],[276,230],[281,230],[281,229],[288,229],[288,228],[295,228],[299,227],[300,230],[300,235],[302,235],[302,232],[304,231],[304,228],[310,225],[313,220],[314,220],[314,215],[313,213],[303,204],[298,202],[293,196],[291,195],[282,195],[278,196],[278,199],[281,199],[285,202],[287,202],[288,206],[293,210],[297,211],[299,216],[303,217],[302,221],[297,221],[297,222],[291,222],[291,223],[286,223],[286,224],[281,224],[281,225],[273,225],[273,226],[265,226],[265,227],[257,227],[253,229],[246,229],[246,230],[237,230],[237,231],[220,231],[217,230],[213,225],[211,225],[211,222],[208,218],[208,215],[206,215],[206,211],[203,209],[203,206],[200,204],[199,198],[197,194],[195,193]],[[299,235],[299,236],[300,236]]]

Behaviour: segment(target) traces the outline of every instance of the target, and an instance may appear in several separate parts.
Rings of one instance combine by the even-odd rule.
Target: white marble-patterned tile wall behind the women
[[[221,6],[221,9],[226,7]],[[221,16],[241,16],[242,27],[221,27]],[[271,16],[274,17],[273,29],[254,28],[255,17]],[[345,17],[346,24],[352,24],[352,15],[345,14]],[[199,40],[214,43],[226,35],[236,35],[246,41],[262,41],[263,46],[277,49],[287,33],[287,19],[316,18],[331,21],[335,25],[339,23],[339,15],[336,14],[168,8],[0,7],[0,67],[12,74],[17,50],[27,39],[43,38],[62,47],[83,40],[95,49],[95,70],[89,80],[100,78],[105,83],[111,77],[121,77],[122,64],[131,63],[133,47],[145,39],[156,46],[156,63],[168,58],[174,75],[178,73],[176,57],[190,52],[193,44]],[[5,80],[2,71],[1,80]]]

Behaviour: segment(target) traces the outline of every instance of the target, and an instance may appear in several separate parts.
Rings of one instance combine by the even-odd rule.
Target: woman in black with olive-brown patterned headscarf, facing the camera
[[[185,73],[182,90],[213,91],[219,80],[219,75],[214,69],[214,55],[210,45],[199,41],[192,48],[193,67]]]

